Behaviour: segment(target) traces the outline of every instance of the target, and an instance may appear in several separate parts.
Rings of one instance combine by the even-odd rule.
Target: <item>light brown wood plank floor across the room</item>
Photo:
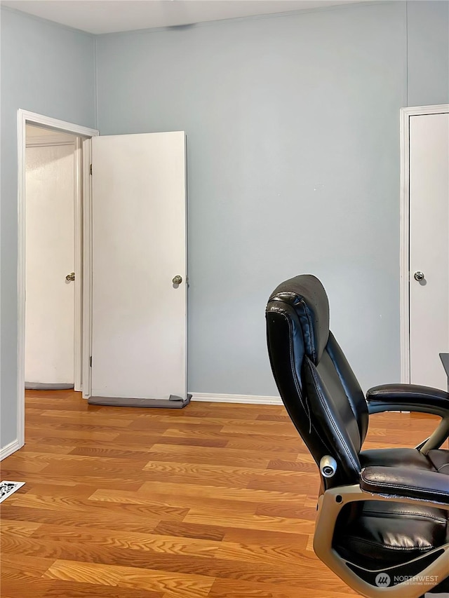
[[[380,414],[366,447],[436,418]],[[344,598],[311,548],[319,475],[283,407],[89,407],[27,392],[1,479],[2,598]]]

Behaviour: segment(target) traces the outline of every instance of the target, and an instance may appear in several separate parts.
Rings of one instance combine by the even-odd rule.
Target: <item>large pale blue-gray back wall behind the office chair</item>
[[[302,272],[363,386],[398,380],[406,33],[398,2],[98,38],[102,134],[187,131],[189,390],[276,393],[264,306]]]

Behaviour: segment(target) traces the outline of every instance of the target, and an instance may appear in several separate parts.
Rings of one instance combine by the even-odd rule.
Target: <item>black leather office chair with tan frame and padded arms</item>
[[[279,285],[266,317],[274,379],[321,473],[316,555],[367,598],[449,592],[449,394],[387,384],[365,397],[314,276]],[[441,423],[415,449],[363,451],[368,415],[401,410]]]

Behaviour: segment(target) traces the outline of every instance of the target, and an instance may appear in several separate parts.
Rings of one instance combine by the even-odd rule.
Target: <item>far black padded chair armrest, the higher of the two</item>
[[[382,384],[366,393],[368,411],[412,411],[449,416],[449,393],[417,384]]]

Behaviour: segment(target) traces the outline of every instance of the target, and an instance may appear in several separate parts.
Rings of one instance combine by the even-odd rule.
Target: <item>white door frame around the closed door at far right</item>
[[[401,382],[406,384],[410,383],[410,117],[448,112],[449,104],[401,108]]]

